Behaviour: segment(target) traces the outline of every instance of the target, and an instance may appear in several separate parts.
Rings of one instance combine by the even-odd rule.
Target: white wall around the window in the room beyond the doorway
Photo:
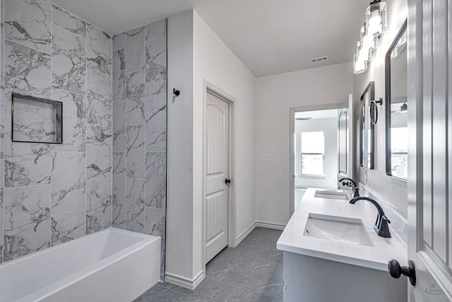
[[[301,164],[301,132],[323,131],[325,136],[325,157],[323,158],[323,175],[325,177],[302,176]],[[338,187],[338,118],[296,120],[295,133],[297,134],[296,144],[296,168],[295,187]]]

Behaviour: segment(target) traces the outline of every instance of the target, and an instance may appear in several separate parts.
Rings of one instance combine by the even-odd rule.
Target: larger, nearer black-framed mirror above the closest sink
[[[408,178],[407,21],[386,52],[386,174]]]

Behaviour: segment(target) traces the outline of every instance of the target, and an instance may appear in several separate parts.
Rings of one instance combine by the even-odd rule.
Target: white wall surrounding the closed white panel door
[[[202,163],[203,81],[235,98],[232,105],[233,174],[230,189],[235,192],[238,238],[254,221],[254,80],[251,71],[225,45],[220,37],[194,12],[194,162]],[[196,206],[201,213],[202,165],[194,167],[199,182],[194,188]],[[199,220],[201,223],[201,219]]]

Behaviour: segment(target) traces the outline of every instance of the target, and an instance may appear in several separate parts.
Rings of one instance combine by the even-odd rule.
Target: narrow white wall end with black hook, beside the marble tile
[[[166,276],[193,279],[193,13],[168,18]],[[172,88],[181,92],[173,98]]]

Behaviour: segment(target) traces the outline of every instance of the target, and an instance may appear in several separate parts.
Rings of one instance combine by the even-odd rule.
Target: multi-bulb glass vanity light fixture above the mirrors
[[[379,37],[386,28],[386,2],[374,0],[366,10],[366,23],[359,30],[357,51],[353,56],[353,71],[361,74],[367,71],[372,52],[379,45]]]

